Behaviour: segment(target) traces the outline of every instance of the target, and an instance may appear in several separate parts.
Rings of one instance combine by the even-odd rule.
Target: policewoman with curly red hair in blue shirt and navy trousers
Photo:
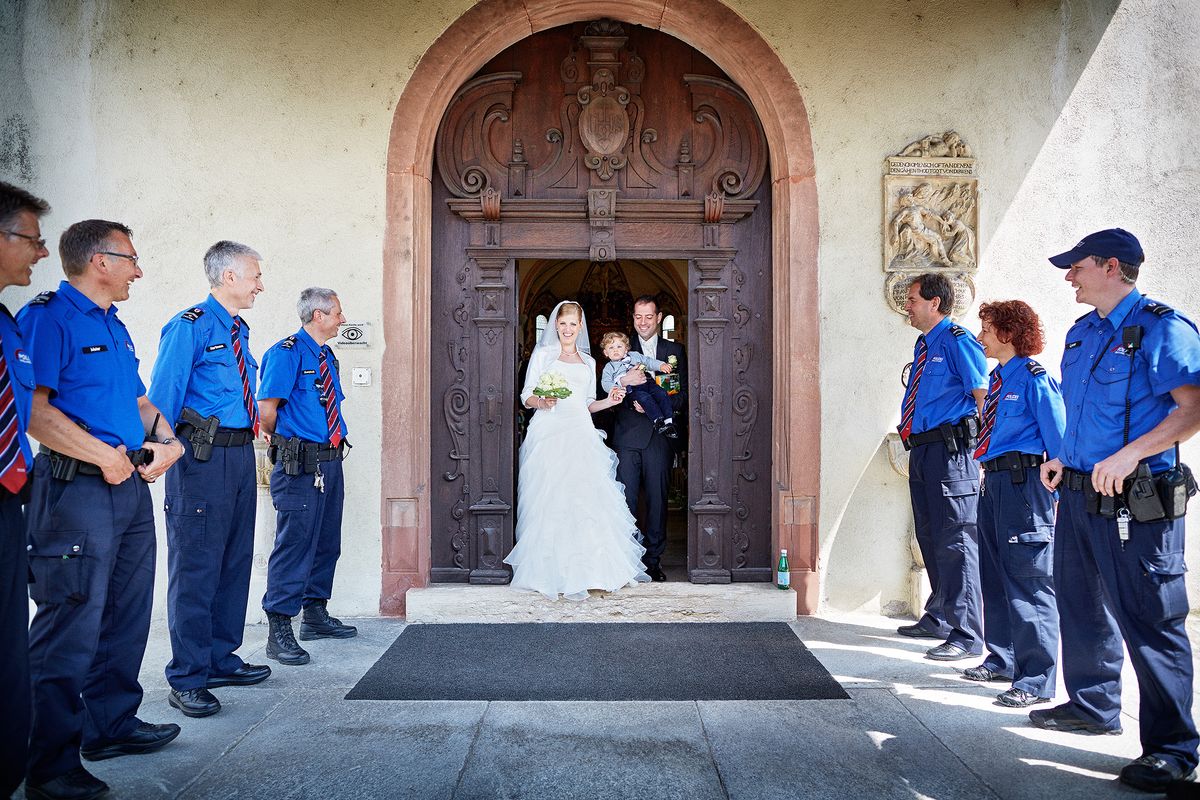
[[[1025,708],[1054,697],[1058,609],[1054,602],[1052,492],[1038,471],[1057,453],[1066,414],[1058,383],[1031,359],[1042,351],[1042,321],[1020,300],[984,303],[979,343],[991,371],[974,457],[979,493],[979,572],[988,657],[964,669],[970,680],[1010,681],[1000,705]]]

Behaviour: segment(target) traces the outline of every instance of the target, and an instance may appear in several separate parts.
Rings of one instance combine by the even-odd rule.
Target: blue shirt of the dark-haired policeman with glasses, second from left
[[[17,321],[34,359],[34,379],[50,405],[101,441],[136,450],[145,441],[138,398],[146,393],[138,356],[116,306],[101,311],[66,281],[30,300]]]

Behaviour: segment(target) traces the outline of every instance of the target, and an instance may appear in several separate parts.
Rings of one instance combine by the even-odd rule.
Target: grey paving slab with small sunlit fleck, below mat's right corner
[[[995,799],[883,688],[850,700],[701,702],[732,800]]]

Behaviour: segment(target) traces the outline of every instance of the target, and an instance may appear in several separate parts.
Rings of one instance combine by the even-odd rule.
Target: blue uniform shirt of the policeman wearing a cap
[[[1122,329],[1132,325],[1142,327],[1142,337],[1130,360]],[[1072,469],[1091,471],[1122,447],[1127,392],[1133,441],[1175,409],[1171,390],[1196,384],[1200,333],[1182,314],[1134,289],[1108,317],[1096,311],[1080,317],[1067,332],[1062,353],[1067,432],[1058,457]],[[1146,461],[1152,473],[1162,473],[1175,463],[1175,451]]]

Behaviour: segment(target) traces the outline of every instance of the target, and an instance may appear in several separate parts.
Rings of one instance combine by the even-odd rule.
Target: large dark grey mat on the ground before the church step
[[[848,699],[785,622],[409,625],[348,700]]]

